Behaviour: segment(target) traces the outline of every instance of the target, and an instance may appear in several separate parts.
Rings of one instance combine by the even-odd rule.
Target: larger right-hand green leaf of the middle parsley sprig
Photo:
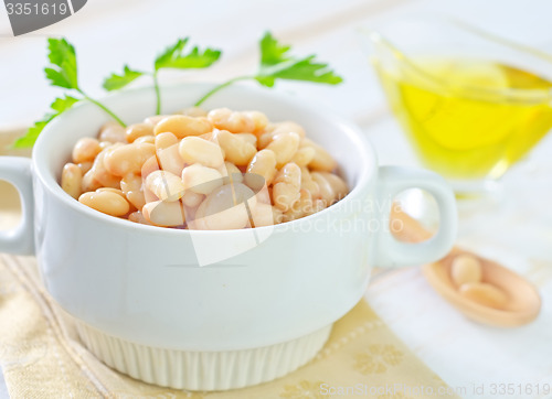
[[[200,51],[198,46],[193,47],[188,54],[183,53],[188,44],[188,37],[179,39],[178,42],[168,47],[156,58],[155,68],[204,68],[211,66],[221,56],[219,50],[205,48]]]

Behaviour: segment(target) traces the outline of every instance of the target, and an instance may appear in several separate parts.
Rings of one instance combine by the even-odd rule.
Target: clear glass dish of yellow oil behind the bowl
[[[551,55],[460,21],[399,20],[362,34],[420,160],[460,197],[497,186],[552,128]]]

